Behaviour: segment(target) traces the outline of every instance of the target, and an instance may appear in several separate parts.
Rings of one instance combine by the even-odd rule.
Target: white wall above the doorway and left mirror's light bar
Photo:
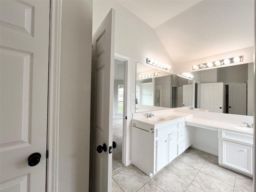
[[[93,32],[97,30],[111,8],[116,10],[115,52],[131,58],[130,93],[136,89],[136,62],[146,63],[146,58],[154,58],[171,65],[170,73],[174,73],[174,64],[160,42],[156,32],[145,22],[126,10],[116,1],[93,1]],[[135,99],[130,100],[135,108]],[[130,106],[128,106],[130,108]],[[131,123],[132,115],[128,121]],[[128,128],[131,143],[131,127]],[[129,146],[129,160],[131,160]]]

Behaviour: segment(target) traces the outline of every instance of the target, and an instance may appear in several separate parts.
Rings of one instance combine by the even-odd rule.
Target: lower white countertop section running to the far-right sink
[[[205,120],[205,119],[199,119],[199,118],[192,118],[190,120],[186,120],[185,124],[202,127],[202,128],[208,128],[216,131],[218,129],[223,129],[223,130],[231,130],[231,131],[253,134],[253,128],[247,128],[244,124],[242,125],[242,124],[226,123],[226,122]],[[235,128],[235,126],[243,126],[243,130]]]

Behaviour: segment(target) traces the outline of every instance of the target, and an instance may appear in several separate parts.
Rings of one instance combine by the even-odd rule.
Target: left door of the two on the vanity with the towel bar
[[[168,136],[156,140],[156,171],[168,164]]]

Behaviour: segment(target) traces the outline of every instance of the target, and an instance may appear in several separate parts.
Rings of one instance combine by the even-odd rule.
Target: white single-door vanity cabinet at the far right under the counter
[[[252,176],[253,136],[219,130],[219,164]]]

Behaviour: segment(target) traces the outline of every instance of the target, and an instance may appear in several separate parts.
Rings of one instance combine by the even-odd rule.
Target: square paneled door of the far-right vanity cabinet
[[[222,163],[252,174],[252,147],[222,141]]]

